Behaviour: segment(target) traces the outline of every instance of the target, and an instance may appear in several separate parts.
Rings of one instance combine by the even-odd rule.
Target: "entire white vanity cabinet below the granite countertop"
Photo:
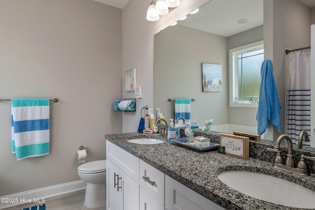
[[[224,210],[106,141],[107,210]]]

